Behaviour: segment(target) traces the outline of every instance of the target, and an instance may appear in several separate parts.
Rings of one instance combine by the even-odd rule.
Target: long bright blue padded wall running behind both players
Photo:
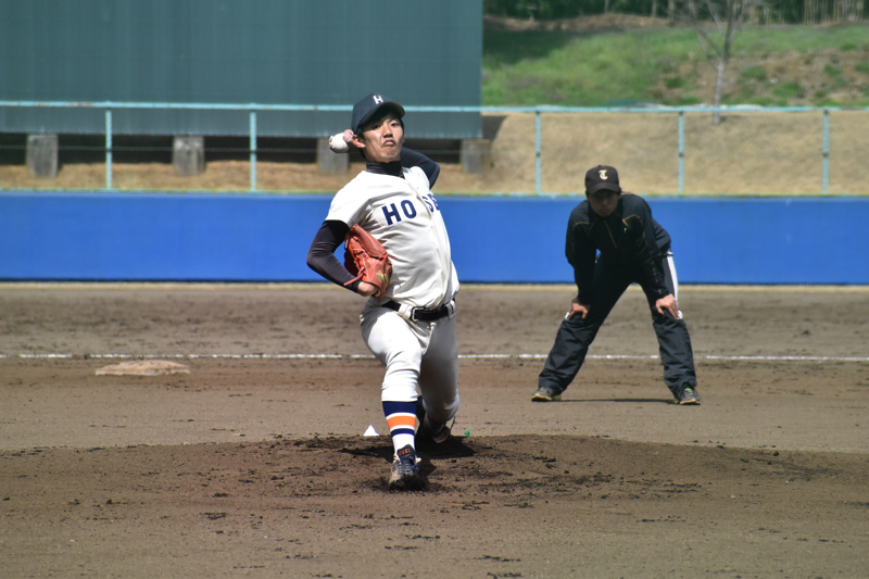
[[[305,254],[330,199],[0,192],[0,280],[320,281]],[[571,282],[581,200],[439,198],[459,279]],[[682,284],[869,284],[869,198],[647,200]]]

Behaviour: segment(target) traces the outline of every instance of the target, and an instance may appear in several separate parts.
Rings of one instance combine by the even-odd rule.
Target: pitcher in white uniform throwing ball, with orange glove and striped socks
[[[403,117],[401,104],[377,93],[353,106],[351,129],[332,137],[332,150],[358,150],[366,168],[335,196],[307,253],[312,269],[369,298],[360,320],[365,344],[386,366],[380,399],[395,451],[390,489],[425,484],[417,429],[443,442],[458,410],[458,279],[431,192],[440,166],[403,148]],[[388,266],[363,260],[354,275],[339,262],[335,251],[354,226],[382,247]]]

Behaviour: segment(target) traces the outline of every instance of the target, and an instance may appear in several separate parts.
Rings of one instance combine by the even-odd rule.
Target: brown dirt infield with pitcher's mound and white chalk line
[[[0,285],[0,576],[866,576],[869,288],[683,288],[698,407],[633,289],[531,403],[569,298],[463,288],[457,436],[390,493],[350,292]]]

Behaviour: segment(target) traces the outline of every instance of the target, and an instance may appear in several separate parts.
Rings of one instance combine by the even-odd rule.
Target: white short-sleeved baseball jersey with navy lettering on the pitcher
[[[437,307],[458,291],[450,238],[426,174],[419,167],[403,171],[404,179],[360,173],[336,193],[326,219],[358,224],[380,241],[392,261],[385,298]]]

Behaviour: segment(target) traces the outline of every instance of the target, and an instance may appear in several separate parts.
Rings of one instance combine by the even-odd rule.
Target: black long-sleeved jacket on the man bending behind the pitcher
[[[633,193],[622,193],[616,210],[601,217],[588,200],[570,213],[565,254],[574,267],[580,303],[592,301],[592,279],[597,252],[600,262],[639,267],[658,298],[669,294],[662,257],[670,249],[670,236],[652,218],[652,209]]]

